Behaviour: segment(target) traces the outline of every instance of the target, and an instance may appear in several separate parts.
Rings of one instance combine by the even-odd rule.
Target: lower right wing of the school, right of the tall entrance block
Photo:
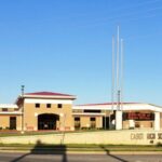
[[[90,104],[73,106],[75,127],[96,127],[117,129],[119,120],[118,112],[121,113],[121,129],[162,129],[162,107],[140,104],[123,103],[122,109],[118,110],[117,104]]]

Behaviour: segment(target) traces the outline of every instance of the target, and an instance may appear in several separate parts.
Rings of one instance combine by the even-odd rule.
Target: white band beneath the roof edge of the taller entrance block
[[[26,104],[72,104],[72,100],[69,99],[35,99],[35,98],[25,98]]]

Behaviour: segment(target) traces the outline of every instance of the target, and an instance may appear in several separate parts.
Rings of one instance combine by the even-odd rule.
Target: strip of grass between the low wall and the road
[[[0,150],[45,150],[45,151],[162,151],[162,146],[138,145],[0,145]]]

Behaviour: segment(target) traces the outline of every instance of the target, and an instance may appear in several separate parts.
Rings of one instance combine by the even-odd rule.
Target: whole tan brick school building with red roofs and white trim
[[[0,104],[0,130],[75,131],[87,129],[162,129],[162,107],[123,103],[73,106],[75,95],[36,92],[19,95],[15,104]]]

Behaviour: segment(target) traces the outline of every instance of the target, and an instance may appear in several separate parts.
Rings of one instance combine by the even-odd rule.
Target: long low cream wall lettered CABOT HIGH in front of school
[[[162,131],[99,131],[0,137],[1,144],[96,144],[96,145],[159,145]]]

